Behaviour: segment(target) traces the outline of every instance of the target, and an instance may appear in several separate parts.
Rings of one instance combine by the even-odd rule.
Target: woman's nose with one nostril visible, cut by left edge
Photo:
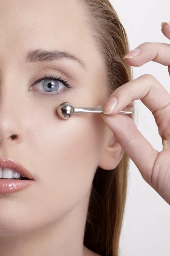
[[[0,83],[0,154],[8,146],[23,140],[22,99],[19,87],[14,83]],[[23,121],[22,121],[23,122]],[[7,150],[8,151],[8,150]]]

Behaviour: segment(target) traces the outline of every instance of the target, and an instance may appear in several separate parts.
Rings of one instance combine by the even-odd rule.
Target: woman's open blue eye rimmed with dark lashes
[[[54,75],[52,75],[52,76],[45,75],[41,79],[36,80],[31,85],[31,87],[34,87],[34,88],[38,87],[38,90],[42,90],[47,93],[49,92],[49,93],[55,94],[55,92],[58,93],[58,91],[60,89],[62,89],[62,84],[64,84],[64,86],[67,87],[68,89],[72,88],[70,86],[70,84],[68,84],[68,81],[65,81],[64,79],[62,79],[62,76],[58,77],[58,76],[54,76]]]

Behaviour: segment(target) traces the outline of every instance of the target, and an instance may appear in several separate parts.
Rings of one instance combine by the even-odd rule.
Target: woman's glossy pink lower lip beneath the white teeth
[[[9,194],[28,188],[34,180],[0,180],[0,194]]]

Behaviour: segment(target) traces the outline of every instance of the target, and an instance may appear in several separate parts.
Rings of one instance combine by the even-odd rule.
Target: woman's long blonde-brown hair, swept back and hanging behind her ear
[[[127,34],[108,0],[77,0],[87,26],[105,60],[108,97],[132,80],[133,70],[122,59],[130,51]],[[133,115],[134,120],[134,115]],[[127,196],[130,158],[124,152],[115,169],[98,166],[91,189],[85,225],[84,245],[102,256],[118,256]]]

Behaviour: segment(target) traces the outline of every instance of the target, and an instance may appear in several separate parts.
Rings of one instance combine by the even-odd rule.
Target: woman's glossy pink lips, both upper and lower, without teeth
[[[0,158],[0,167],[11,169],[28,178],[28,180],[0,179],[0,194],[9,194],[26,189],[34,183],[34,177],[27,169],[11,158]]]

